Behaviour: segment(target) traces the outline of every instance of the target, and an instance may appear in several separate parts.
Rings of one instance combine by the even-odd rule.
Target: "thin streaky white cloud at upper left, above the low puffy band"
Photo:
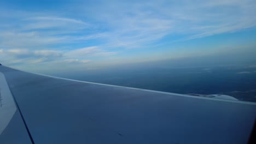
[[[5,21],[15,20],[15,22],[9,22],[8,25],[0,26],[0,47],[8,49],[15,47],[42,49],[45,46],[81,43],[85,39],[97,37],[92,36],[90,31],[94,28],[89,23],[67,17],[31,17],[31,14],[23,13],[17,17],[9,17],[10,20],[4,19]]]

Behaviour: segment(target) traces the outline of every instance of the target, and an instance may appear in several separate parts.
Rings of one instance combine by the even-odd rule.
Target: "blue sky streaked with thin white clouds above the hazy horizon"
[[[0,62],[56,71],[256,53],[255,8],[251,0],[1,1]]]

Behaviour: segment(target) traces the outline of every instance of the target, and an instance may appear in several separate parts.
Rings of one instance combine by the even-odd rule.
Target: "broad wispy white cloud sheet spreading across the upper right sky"
[[[91,16],[111,29],[108,46],[130,48],[152,45],[167,35],[185,34],[180,38],[185,40],[254,27],[255,7],[251,0],[114,1],[89,10],[97,9]]]

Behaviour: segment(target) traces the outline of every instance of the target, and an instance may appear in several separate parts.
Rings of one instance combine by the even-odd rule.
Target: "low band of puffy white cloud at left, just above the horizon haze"
[[[30,49],[1,49],[0,59],[5,64],[38,64],[61,63],[86,64],[92,62],[90,58],[103,58],[115,55],[116,52],[101,50],[96,46],[84,47],[71,51],[30,50]]]

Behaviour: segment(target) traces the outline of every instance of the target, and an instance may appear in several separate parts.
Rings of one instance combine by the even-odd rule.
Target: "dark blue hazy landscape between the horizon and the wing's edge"
[[[176,65],[177,63],[179,65]],[[190,64],[193,64],[193,67],[189,67]],[[240,100],[256,102],[255,64],[196,65],[196,61],[147,62],[55,75],[172,93],[226,94]]]

